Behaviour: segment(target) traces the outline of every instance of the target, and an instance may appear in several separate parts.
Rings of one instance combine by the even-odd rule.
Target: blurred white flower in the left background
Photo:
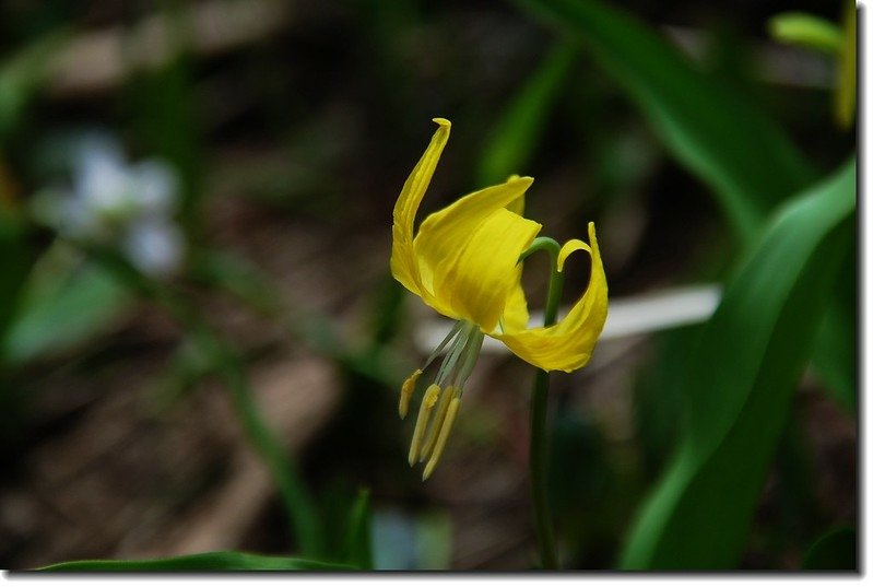
[[[39,220],[60,234],[114,244],[141,271],[166,277],[178,270],[185,240],[174,220],[179,181],[158,160],[125,161],[111,137],[89,134],[72,159],[72,190],[34,202]]]

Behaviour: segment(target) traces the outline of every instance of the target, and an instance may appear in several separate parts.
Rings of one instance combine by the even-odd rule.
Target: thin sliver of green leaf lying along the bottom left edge
[[[204,552],[146,561],[72,561],[44,566],[38,571],[354,571],[355,567],[290,556],[264,556],[245,552]]]

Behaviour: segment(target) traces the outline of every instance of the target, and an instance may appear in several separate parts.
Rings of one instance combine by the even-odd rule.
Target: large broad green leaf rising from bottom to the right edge
[[[625,568],[740,560],[791,398],[853,246],[856,163],[780,210],[728,283],[686,376],[688,426],[633,528]]]

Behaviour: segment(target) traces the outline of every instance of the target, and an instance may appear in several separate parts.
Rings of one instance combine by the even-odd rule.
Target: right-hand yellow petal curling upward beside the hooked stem
[[[588,235],[591,240],[591,279],[585,294],[570,308],[567,316],[547,328],[492,334],[502,340],[520,359],[545,371],[571,372],[585,366],[606,321],[609,305],[606,275],[593,223],[588,225]]]

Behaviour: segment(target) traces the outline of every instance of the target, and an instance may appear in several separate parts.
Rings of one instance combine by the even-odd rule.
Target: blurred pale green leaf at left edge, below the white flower
[[[21,308],[3,341],[10,362],[32,361],[81,343],[108,328],[131,296],[115,277],[94,263],[30,278]]]

